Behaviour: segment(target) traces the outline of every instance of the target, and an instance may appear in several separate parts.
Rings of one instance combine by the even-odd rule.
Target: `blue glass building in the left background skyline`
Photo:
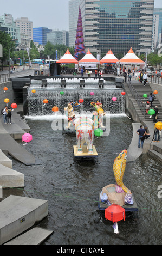
[[[48,28],[33,28],[33,41],[38,42],[40,45],[46,45],[47,33],[49,32],[52,32],[52,30]]]

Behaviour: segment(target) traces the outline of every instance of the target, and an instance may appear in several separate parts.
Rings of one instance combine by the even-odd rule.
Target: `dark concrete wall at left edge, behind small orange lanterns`
[[[8,88],[8,90],[5,92],[3,90],[4,87]],[[8,103],[8,106],[10,106],[14,102],[14,92],[12,89],[11,81],[0,83],[0,110],[4,109],[4,107],[6,106],[6,103],[4,102],[5,98],[8,98],[10,100],[10,102]]]

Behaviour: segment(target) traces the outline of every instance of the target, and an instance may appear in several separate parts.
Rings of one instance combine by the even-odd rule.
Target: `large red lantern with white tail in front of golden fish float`
[[[112,204],[108,206],[105,210],[105,218],[106,220],[114,222],[114,232],[118,232],[118,221],[125,221],[125,209],[122,208],[119,204]]]

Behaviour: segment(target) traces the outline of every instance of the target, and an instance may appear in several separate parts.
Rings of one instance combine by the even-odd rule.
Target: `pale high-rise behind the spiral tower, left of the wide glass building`
[[[69,1],[69,47],[75,46],[80,0]]]

